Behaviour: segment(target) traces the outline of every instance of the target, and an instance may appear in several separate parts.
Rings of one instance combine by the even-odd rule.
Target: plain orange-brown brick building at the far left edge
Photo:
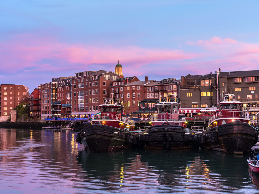
[[[25,85],[1,85],[1,122],[6,121],[10,117],[11,110],[19,105],[23,96],[27,98],[30,96],[29,88]]]

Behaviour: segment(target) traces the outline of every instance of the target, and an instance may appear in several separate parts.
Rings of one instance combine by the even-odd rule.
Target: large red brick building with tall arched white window
[[[72,79],[72,115],[88,117],[98,113],[98,106],[110,98],[112,81],[120,77],[123,76],[104,70],[76,73]]]

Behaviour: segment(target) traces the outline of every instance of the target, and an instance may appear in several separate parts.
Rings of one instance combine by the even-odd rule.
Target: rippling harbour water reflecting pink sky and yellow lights
[[[0,193],[259,193],[247,155],[88,153],[77,132],[0,129]]]

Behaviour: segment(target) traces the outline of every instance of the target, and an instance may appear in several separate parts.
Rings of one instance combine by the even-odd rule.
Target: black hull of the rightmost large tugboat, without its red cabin
[[[243,154],[255,142],[255,129],[244,122],[227,123],[204,131],[199,140],[207,149]]]

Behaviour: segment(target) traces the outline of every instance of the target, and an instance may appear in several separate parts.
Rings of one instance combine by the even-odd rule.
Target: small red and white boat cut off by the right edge
[[[247,163],[252,172],[259,173],[259,142],[251,147],[251,155],[247,158]]]

